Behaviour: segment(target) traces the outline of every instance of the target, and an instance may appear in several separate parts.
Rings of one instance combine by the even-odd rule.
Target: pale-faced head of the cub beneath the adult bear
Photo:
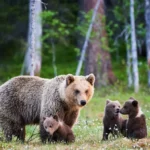
[[[50,117],[43,117],[43,127],[46,132],[53,135],[54,132],[59,128],[60,122],[57,115]]]

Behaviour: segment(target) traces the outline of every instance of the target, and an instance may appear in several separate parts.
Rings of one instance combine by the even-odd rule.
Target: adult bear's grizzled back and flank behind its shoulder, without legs
[[[0,86],[0,113],[25,124],[38,123],[45,82],[47,79],[30,76],[18,76],[5,82]]]

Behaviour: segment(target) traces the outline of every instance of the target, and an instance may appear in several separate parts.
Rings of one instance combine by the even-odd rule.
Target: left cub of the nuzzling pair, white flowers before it
[[[124,119],[121,117],[119,101],[106,101],[105,114],[103,117],[103,138],[102,140],[108,140],[109,133],[115,136],[119,136],[123,132]]]

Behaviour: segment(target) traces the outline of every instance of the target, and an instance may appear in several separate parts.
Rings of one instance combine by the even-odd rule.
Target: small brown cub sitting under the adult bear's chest
[[[49,141],[74,142],[75,136],[71,128],[64,122],[60,121],[57,115],[44,117],[43,126],[50,135]]]

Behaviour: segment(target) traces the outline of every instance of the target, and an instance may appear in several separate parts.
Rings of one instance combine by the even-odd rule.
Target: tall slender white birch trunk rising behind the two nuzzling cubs
[[[138,72],[137,44],[135,34],[134,0],[130,0],[130,22],[131,22],[131,51],[132,51],[134,91],[137,93],[139,91],[139,72]]]

